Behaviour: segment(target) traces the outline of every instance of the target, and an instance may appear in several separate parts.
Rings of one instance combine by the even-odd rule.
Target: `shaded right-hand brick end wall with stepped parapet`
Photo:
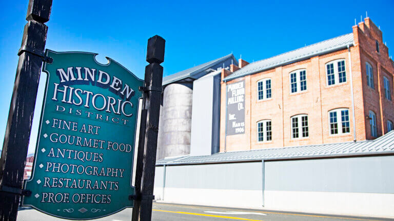
[[[392,83],[394,67],[392,60],[388,57],[388,48],[384,45],[382,32],[376,27],[369,18],[358,26],[353,26],[354,40],[356,47],[359,49],[359,65],[361,69],[362,86],[355,90],[363,92],[364,116],[369,115],[369,111],[375,112],[377,116],[378,136],[387,132],[387,120],[394,120],[394,103],[385,98],[383,76],[390,80],[391,97],[393,94]],[[376,40],[379,42],[379,53],[376,50]],[[375,89],[367,85],[365,62],[372,65],[373,80]],[[371,136],[369,120],[366,119],[363,125],[365,127],[366,139],[375,139]]]

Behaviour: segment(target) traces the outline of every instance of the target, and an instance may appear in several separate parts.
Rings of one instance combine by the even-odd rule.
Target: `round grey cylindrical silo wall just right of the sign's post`
[[[165,86],[160,109],[156,159],[190,153],[193,83]]]

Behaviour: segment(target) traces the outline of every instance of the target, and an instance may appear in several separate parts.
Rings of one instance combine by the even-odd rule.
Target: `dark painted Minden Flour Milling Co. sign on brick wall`
[[[227,135],[245,134],[245,80],[228,84]]]

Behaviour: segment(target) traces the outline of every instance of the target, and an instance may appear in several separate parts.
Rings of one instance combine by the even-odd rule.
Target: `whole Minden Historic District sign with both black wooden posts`
[[[0,221],[21,204],[86,220],[133,207],[151,220],[165,40],[148,39],[145,81],[95,53],[45,49],[52,0],[30,0],[0,159]],[[33,173],[23,174],[41,67],[48,74]],[[143,85],[143,86],[142,86]],[[131,186],[138,98],[142,116]]]

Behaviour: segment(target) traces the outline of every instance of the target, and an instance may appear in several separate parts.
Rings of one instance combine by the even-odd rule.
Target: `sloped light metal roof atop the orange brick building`
[[[255,61],[246,65],[244,68],[230,74],[223,81],[229,81],[235,78],[258,73],[268,69],[272,69],[281,65],[286,65],[307,58],[327,54],[329,52],[338,51],[352,46],[354,44],[353,33],[341,35],[328,40],[324,40],[313,45],[305,46],[293,51],[289,51],[274,57]]]

